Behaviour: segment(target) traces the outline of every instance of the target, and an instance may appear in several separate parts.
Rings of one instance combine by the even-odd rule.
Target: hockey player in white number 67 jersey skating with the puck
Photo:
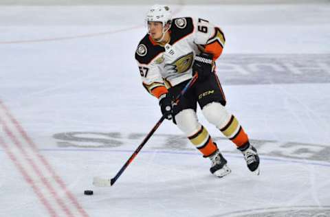
[[[196,115],[197,103],[211,124],[216,126],[243,153],[248,168],[259,174],[259,156],[234,115],[225,109],[225,95],[217,78],[215,60],[225,45],[219,27],[204,19],[172,19],[170,8],[154,5],[146,15],[148,33],[137,46],[135,59],[145,89],[159,100],[162,114],[173,119],[191,143],[211,160],[210,172],[218,177],[230,174],[227,161],[219,152]],[[198,73],[197,82],[173,104]]]

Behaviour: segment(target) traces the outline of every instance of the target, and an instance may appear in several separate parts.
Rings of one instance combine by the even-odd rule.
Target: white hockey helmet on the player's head
[[[166,5],[153,5],[146,14],[146,24],[148,22],[161,22],[163,27],[166,23],[172,23],[172,12]]]

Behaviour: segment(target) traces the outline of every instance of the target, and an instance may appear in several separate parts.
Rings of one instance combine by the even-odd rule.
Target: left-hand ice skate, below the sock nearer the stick
[[[227,161],[221,155],[219,150],[217,150],[217,152],[215,152],[212,156],[210,156],[210,159],[212,161],[210,172],[214,174],[214,176],[218,176],[219,178],[222,178],[223,176],[226,176],[230,174],[230,172],[232,172],[232,170],[228,168]]]

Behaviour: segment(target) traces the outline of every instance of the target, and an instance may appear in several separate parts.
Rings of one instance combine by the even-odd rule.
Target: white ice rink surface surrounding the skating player
[[[91,185],[160,117],[134,60],[147,8],[0,7],[0,216],[330,216],[327,3],[173,6],[223,29],[219,78],[260,176],[199,113],[230,176],[164,122],[113,187]]]

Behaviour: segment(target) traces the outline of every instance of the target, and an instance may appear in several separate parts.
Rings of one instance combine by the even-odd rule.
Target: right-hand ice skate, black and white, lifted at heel
[[[259,155],[256,151],[256,148],[250,145],[250,143],[245,144],[242,147],[238,148],[244,155],[244,159],[248,165],[248,168],[251,172],[256,175],[260,174],[259,170]]]

